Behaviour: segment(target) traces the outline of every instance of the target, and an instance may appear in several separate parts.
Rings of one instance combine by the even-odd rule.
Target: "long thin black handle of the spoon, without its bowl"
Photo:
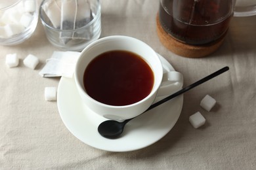
[[[201,80],[198,80],[197,82],[194,82],[193,84],[190,84],[189,86],[186,86],[185,88],[182,88],[181,90],[179,90],[176,93],[173,93],[172,95],[169,95],[168,97],[165,97],[164,99],[161,99],[160,101],[154,103],[153,105],[151,105],[150,107],[148,107],[148,110],[151,110],[155,107],[157,107],[158,105],[161,105],[162,103],[165,103],[166,101],[169,101],[170,99],[173,99],[174,97],[177,97],[178,95],[202,84],[203,82],[206,82],[208,80],[210,80],[211,78],[214,78],[215,76],[221,75],[222,73],[224,73],[225,71],[228,71],[229,67],[223,67],[222,69],[219,69],[219,71],[216,71],[215,73],[212,73],[209,76],[205,76],[205,78],[202,78]],[[145,112],[146,112],[145,111]]]

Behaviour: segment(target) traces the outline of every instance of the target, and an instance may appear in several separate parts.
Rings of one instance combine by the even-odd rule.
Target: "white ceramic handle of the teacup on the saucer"
[[[163,73],[160,88],[158,89],[158,97],[163,95],[171,95],[177,92],[183,86],[183,75],[177,71],[169,71]]]

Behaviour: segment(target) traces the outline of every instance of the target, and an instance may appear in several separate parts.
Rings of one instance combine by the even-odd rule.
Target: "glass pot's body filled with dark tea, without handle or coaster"
[[[228,30],[232,0],[161,0],[159,16],[163,29],[175,39],[207,44]]]

